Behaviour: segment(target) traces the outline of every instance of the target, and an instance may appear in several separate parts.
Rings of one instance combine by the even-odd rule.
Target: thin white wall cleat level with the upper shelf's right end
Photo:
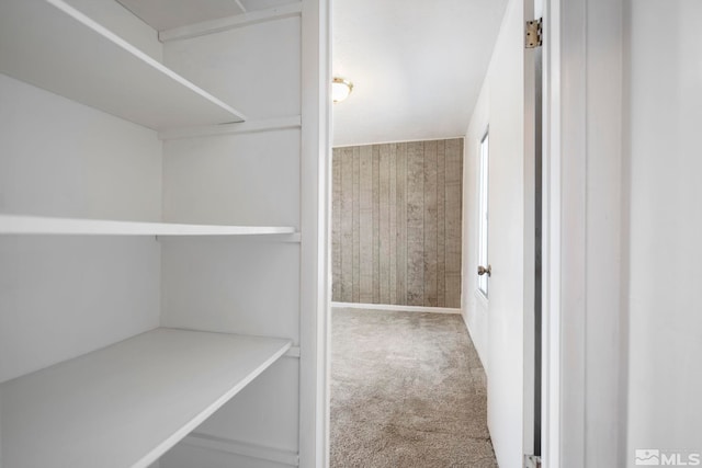
[[[236,122],[230,124],[206,125],[202,127],[174,128],[159,132],[158,138],[160,140],[174,140],[217,135],[241,135],[254,134],[260,132],[276,132],[299,127],[302,127],[302,117],[299,115],[293,115],[290,117],[267,118],[241,123]]]

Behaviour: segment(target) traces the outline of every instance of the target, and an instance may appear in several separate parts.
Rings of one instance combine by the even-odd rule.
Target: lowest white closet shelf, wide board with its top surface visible
[[[5,381],[2,466],[148,467],[290,346],[156,329]]]

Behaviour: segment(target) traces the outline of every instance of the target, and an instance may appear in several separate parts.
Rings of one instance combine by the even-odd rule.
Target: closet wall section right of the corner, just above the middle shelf
[[[299,228],[299,137],[294,128],[166,141],[163,218]]]

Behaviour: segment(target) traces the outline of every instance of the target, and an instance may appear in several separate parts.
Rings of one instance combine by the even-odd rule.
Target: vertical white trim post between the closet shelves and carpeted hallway
[[[329,465],[331,0],[302,13],[299,465]]]

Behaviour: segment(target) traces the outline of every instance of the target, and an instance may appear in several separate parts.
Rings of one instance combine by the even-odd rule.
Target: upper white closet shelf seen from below
[[[0,72],[159,132],[245,119],[63,0],[0,1]]]

